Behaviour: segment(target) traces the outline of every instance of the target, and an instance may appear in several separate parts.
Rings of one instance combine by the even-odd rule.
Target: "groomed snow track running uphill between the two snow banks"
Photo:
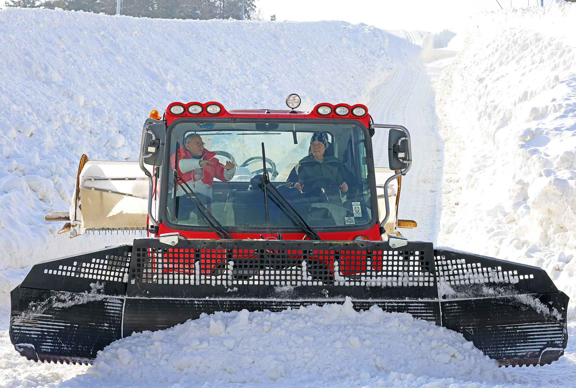
[[[416,229],[401,229],[411,240],[434,242],[438,233],[439,187],[442,178],[442,145],[438,137],[434,92],[423,60],[418,32],[394,32],[389,52],[396,54],[391,76],[373,89],[370,114],[376,123],[400,124],[412,139],[412,168],[403,177],[399,218],[418,222]],[[380,132],[380,133],[379,133]],[[374,161],[388,166],[388,134],[374,135]],[[384,182],[382,182],[384,183]]]

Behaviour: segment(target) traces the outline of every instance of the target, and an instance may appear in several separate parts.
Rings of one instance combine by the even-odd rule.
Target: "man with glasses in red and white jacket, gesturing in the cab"
[[[214,178],[218,178],[222,182],[231,180],[236,173],[236,165],[230,161],[226,161],[225,165],[220,163],[215,158],[216,153],[204,148],[205,144],[200,135],[192,132],[187,134],[184,137],[184,145],[178,149],[177,171],[198,195],[200,201],[204,205],[210,206]],[[172,168],[175,167],[175,160],[176,155],[172,155],[170,157]],[[178,187],[176,194],[178,218],[181,218],[181,215],[190,214],[190,211],[196,212],[196,206],[190,201],[183,188]]]

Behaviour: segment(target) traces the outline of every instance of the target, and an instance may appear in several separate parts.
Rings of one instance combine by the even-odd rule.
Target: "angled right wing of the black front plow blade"
[[[442,325],[500,365],[544,365],[568,343],[568,296],[541,268],[435,249]]]

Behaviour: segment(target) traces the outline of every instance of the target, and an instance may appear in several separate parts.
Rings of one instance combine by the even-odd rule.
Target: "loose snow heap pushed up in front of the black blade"
[[[280,313],[204,314],[172,329],[132,334],[105,348],[88,372],[110,385],[382,386],[401,376],[411,382],[418,376],[491,382],[503,375],[459,333],[376,306],[358,313],[350,299]],[[78,385],[85,383],[86,377]]]

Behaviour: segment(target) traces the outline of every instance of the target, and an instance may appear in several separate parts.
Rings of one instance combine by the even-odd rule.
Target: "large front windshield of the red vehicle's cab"
[[[223,227],[298,227],[270,193],[266,219],[262,143],[272,184],[310,226],[370,223],[364,133],[357,125],[229,122],[172,128],[164,180],[169,222],[207,226],[199,199]]]

